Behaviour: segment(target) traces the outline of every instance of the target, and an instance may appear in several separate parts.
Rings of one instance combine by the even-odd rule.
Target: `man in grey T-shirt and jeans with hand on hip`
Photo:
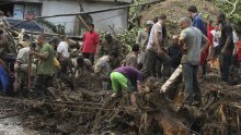
[[[203,52],[208,47],[208,39],[198,28],[191,26],[191,20],[187,17],[181,19],[179,25],[183,29],[180,35],[180,46],[183,49],[182,74],[185,89],[188,93],[186,100],[190,106],[194,103],[193,100],[200,105],[202,94],[197,82],[197,68],[200,60],[202,41],[206,42],[202,49]]]

